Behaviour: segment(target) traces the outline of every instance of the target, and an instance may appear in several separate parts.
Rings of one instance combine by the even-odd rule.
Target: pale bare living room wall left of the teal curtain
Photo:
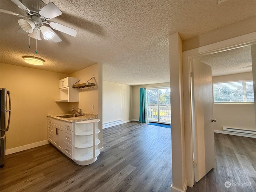
[[[103,81],[103,123],[132,119],[132,86]]]

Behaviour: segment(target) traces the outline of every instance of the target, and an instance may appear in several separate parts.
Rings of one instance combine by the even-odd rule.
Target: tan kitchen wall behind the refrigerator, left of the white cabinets
[[[1,64],[1,88],[10,90],[12,113],[6,149],[47,140],[47,114],[67,112],[59,98],[59,80],[66,74]]]

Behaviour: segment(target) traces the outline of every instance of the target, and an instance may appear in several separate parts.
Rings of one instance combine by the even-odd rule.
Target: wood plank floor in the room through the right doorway
[[[214,140],[215,168],[187,192],[256,192],[256,139],[214,133]]]

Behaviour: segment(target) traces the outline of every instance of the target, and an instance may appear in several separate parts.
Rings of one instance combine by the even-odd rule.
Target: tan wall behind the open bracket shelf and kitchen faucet
[[[96,113],[99,115],[100,122],[98,124],[100,133],[99,148],[102,148],[102,64],[94,64],[69,75],[70,77],[80,78],[80,83],[89,82],[95,83],[95,87],[82,89],[79,91],[79,103],[72,103],[72,108],[76,110],[82,109],[82,112]],[[92,105],[94,108],[92,109]]]

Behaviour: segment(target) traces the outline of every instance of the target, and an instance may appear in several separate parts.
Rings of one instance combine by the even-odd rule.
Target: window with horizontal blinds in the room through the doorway
[[[214,103],[254,102],[253,81],[214,83]]]

